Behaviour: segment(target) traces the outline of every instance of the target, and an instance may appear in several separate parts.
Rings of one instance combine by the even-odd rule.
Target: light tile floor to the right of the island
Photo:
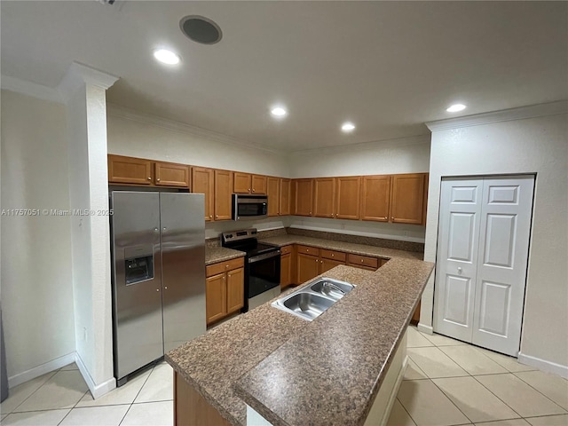
[[[568,381],[408,327],[408,365],[388,426],[568,426]]]

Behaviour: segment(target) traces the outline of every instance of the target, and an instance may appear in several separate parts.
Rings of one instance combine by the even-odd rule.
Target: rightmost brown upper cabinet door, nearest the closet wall
[[[392,175],[390,222],[422,224],[424,212],[424,173]]]

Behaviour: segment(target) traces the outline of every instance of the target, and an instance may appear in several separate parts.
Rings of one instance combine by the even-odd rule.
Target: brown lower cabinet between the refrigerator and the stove
[[[205,311],[207,325],[223,319],[244,305],[244,259],[210,264],[206,268]]]

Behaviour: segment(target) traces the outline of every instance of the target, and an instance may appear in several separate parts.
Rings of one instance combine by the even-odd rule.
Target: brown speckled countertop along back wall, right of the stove
[[[283,247],[289,244],[303,244],[304,246],[312,246],[317,248],[326,248],[327,250],[344,251],[346,253],[353,253],[361,256],[375,256],[375,257],[402,257],[406,259],[422,260],[423,253],[414,251],[396,250],[394,248],[383,248],[376,246],[368,246],[366,244],[355,244],[352,242],[324,240],[321,238],[304,237],[303,235],[279,235],[277,237],[266,238],[259,240],[266,244]]]

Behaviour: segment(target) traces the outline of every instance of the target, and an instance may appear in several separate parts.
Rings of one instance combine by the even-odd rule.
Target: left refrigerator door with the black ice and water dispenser
[[[160,195],[113,192],[111,204],[114,375],[120,382],[163,355]]]

